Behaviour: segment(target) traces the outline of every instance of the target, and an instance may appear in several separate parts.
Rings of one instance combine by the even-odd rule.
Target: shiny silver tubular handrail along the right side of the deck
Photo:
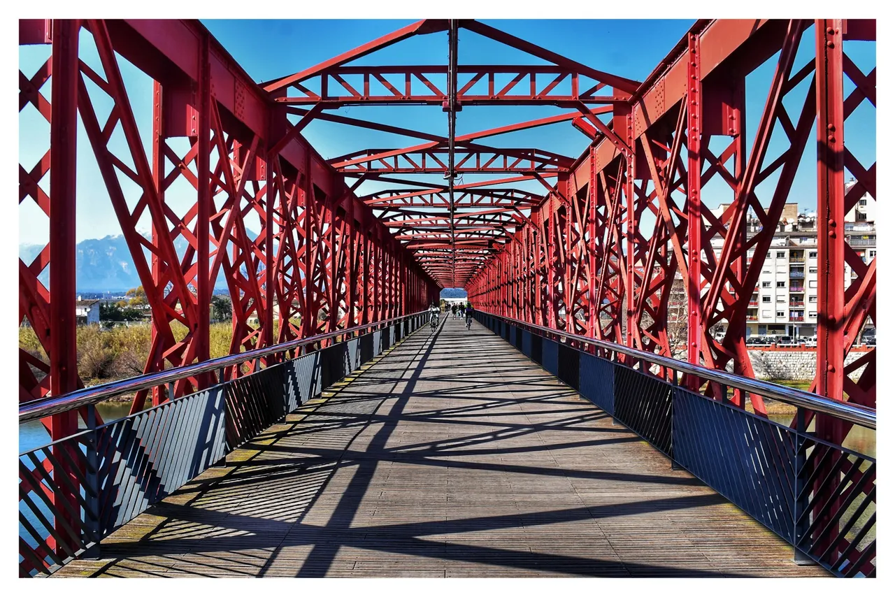
[[[549,334],[553,334],[555,336],[575,340],[576,342],[583,342],[585,344],[594,345],[599,348],[610,350],[619,354],[626,354],[628,356],[634,357],[635,359],[641,359],[643,361],[651,362],[652,364],[656,364],[661,367],[668,367],[669,369],[673,369],[675,371],[687,373],[690,375],[695,375],[706,380],[717,381],[731,388],[739,388],[746,390],[747,392],[753,392],[754,394],[761,394],[762,396],[773,398],[774,400],[780,400],[780,402],[785,402],[788,405],[801,406],[803,408],[807,408],[808,410],[814,411],[815,413],[831,414],[832,416],[839,417],[844,421],[853,422],[861,425],[862,427],[869,427],[870,429],[874,430],[876,429],[876,409],[874,408],[868,408],[862,405],[854,405],[848,402],[842,402],[840,400],[834,400],[832,398],[819,396],[817,394],[812,394],[811,392],[806,392],[803,389],[779,386],[769,381],[746,378],[742,375],[737,375],[736,373],[729,373],[728,371],[708,369],[701,365],[695,365],[686,361],[678,361],[678,359],[672,359],[667,356],[662,356],[661,354],[647,353],[643,350],[638,350],[637,348],[632,348],[630,346],[618,345],[612,342],[606,342],[605,340],[598,340],[592,337],[580,336],[578,334],[570,334],[561,329],[545,328],[534,323],[528,323],[527,321],[514,320],[509,317],[504,317],[503,315],[498,315],[497,313],[492,313],[490,311],[477,311],[490,315],[491,317],[496,317],[500,320],[508,321],[520,327],[537,329]]]

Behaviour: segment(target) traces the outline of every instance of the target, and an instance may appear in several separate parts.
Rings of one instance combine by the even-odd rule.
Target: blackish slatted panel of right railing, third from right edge
[[[671,386],[624,365],[614,368],[615,418],[671,456]]]

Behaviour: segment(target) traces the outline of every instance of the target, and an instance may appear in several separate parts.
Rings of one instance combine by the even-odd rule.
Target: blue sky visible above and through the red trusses
[[[340,54],[389,31],[396,30],[411,21],[203,21],[220,43],[237,62],[243,65],[255,81],[267,81],[298,72],[327,58]],[[524,38],[541,47],[566,55],[593,68],[642,81],[654,66],[680,39],[692,21],[485,21],[489,25]],[[632,43],[632,40],[636,40]],[[813,54],[813,30],[805,33],[797,55],[796,68],[801,67]],[[460,31],[459,61],[461,64],[545,64],[529,55],[503,46],[470,31]],[[846,52],[863,72],[875,65],[875,44],[848,42]],[[20,69],[31,76],[47,59],[49,48],[43,46],[20,48]],[[81,59],[98,72],[101,66],[90,34],[81,33]],[[445,64],[447,61],[447,34],[444,32],[407,39],[353,64]],[[138,126],[149,152],[151,132],[152,81],[130,64],[120,61],[124,81],[132,101]],[[776,64],[776,56],[760,66],[746,79],[746,139],[749,146],[754,140],[758,117],[767,96],[768,85]],[[50,85],[44,89],[49,98]],[[90,83],[92,85],[92,83]],[[805,83],[803,83],[804,87]],[[854,89],[846,81],[846,94]],[[91,97],[99,117],[105,117],[111,103],[96,88]],[[804,90],[793,93],[787,102],[790,115],[804,96]],[[503,124],[511,124],[560,112],[553,107],[466,107],[458,115],[457,134],[473,132]],[[447,116],[440,107],[345,107],[338,114],[364,120],[396,124],[424,132],[447,134]],[[792,116],[795,119],[795,116]],[[875,160],[875,108],[864,102],[847,123],[846,143],[857,158],[869,166]],[[779,127],[778,127],[779,129]],[[20,162],[26,169],[37,163],[48,147],[49,126],[32,107],[26,107],[20,115]],[[304,131],[304,136],[325,158],[335,157],[355,149],[367,147],[404,147],[419,141],[382,132],[371,132],[343,124],[314,122]],[[785,144],[782,132],[775,133],[768,159],[776,158]],[[813,137],[812,137],[813,139]],[[124,150],[124,137],[120,130],[113,135],[111,146],[116,155],[131,165]],[[177,145],[177,140],[173,144]],[[717,144],[725,140],[718,140]],[[785,140],[784,140],[785,141]],[[570,157],[577,157],[587,146],[583,134],[569,124],[554,124],[527,132],[491,138],[495,146],[520,146],[549,149]],[[185,141],[184,141],[185,143]],[[185,144],[183,145],[185,147]],[[120,226],[108,200],[105,184],[99,176],[90,144],[81,128],[79,131],[78,160],[78,240],[120,234]],[[813,209],[816,170],[813,143],[799,167],[792,199],[803,209]],[[766,162],[767,163],[767,162]],[[48,178],[48,177],[47,177]],[[416,177],[420,181],[439,182],[440,176]],[[467,175],[465,182],[472,182]],[[759,187],[759,196],[770,190],[776,176]],[[443,182],[443,181],[442,181]],[[48,189],[48,180],[41,185]],[[139,189],[124,179],[125,196],[130,202],[139,198]],[[384,188],[383,183],[364,183],[360,192],[374,192]],[[522,187],[525,188],[525,187]],[[540,190],[534,183],[529,186]],[[175,211],[182,213],[192,200],[192,188],[178,184],[167,194],[167,200]],[[731,192],[720,180],[710,183],[703,191],[703,199],[710,206],[727,202]],[[766,198],[769,200],[770,198]],[[763,202],[766,202],[763,200]],[[33,205],[25,201],[20,207],[20,243],[46,243],[47,218]],[[251,227],[251,223],[249,224]],[[142,230],[149,229],[144,217],[138,223]]]

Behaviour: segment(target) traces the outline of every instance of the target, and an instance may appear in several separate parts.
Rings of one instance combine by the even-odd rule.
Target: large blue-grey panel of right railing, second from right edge
[[[675,388],[672,443],[678,465],[793,542],[795,431]]]

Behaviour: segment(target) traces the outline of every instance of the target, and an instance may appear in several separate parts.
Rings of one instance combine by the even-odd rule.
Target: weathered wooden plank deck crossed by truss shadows
[[[422,328],[55,576],[826,576],[478,323]]]

